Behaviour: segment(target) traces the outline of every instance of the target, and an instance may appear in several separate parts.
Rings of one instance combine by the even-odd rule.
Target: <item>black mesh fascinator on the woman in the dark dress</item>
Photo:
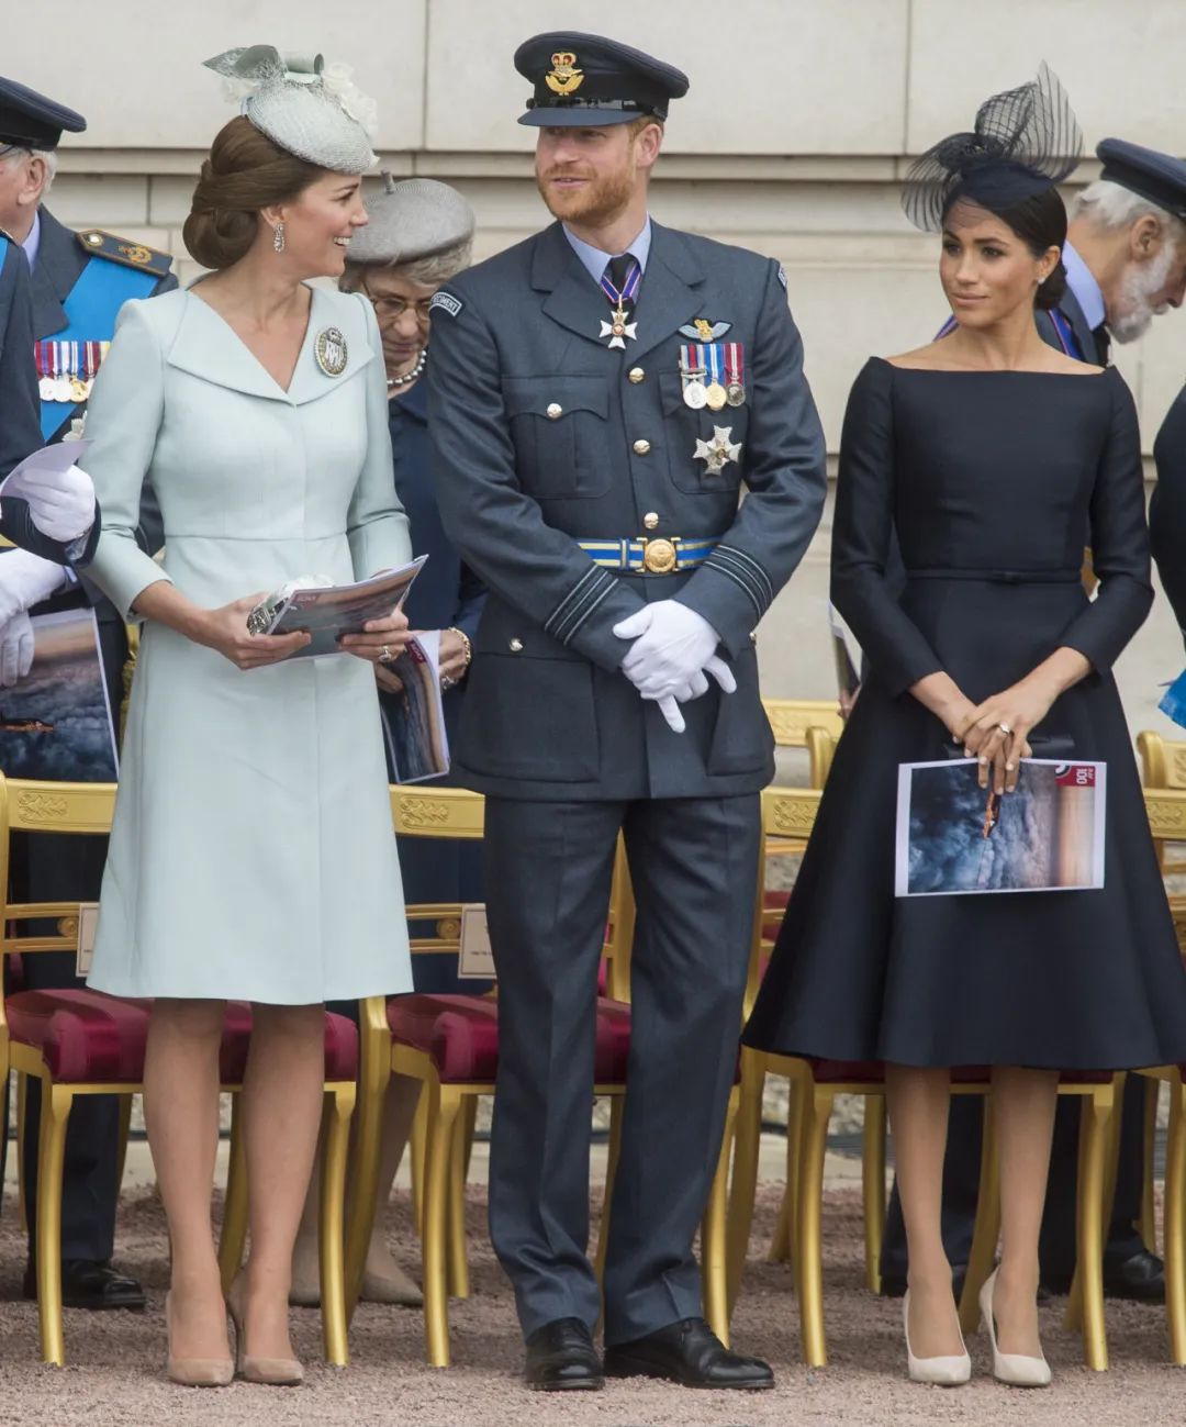
[[[939,233],[961,198],[1009,207],[1066,178],[1082,150],[1066,90],[1043,61],[1036,80],[985,100],[970,134],[949,134],[911,164],[902,207],[916,228]]]

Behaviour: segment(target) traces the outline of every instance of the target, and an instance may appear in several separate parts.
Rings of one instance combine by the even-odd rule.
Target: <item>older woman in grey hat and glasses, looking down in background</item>
[[[375,310],[387,365],[387,405],[394,455],[395,494],[411,524],[412,549],[430,559],[408,595],[404,612],[411,628],[437,631],[441,649],[441,689],[445,726],[454,735],[465,694],[471,639],[485,604],[485,586],[462,565],[450,545],[437,508],[428,448],[428,414],[420,381],[428,361],[428,310],[441,283],[470,265],[474,210],[448,184],[431,178],[394,183],[384,174],[384,191],[367,203],[370,223],[354,234],[338,285],[364,294]],[[400,698],[400,679],[375,665],[380,711],[391,765],[388,719]],[[408,905],[417,902],[481,902],[481,849],[477,843],[401,839],[400,865]],[[402,909],[400,909],[402,916]],[[420,956],[414,966],[417,990],[481,990],[474,982],[458,986],[455,966],[445,958]],[[335,1010],[354,1013],[351,1006]],[[378,1203],[385,1204],[415,1113],[418,1086],[400,1076],[387,1097]],[[317,1179],[310,1187],[293,1263],[293,1301],[315,1304]],[[418,1306],[420,1290],[387,1247],[382,1213],[375,1216],[363,1297],[372,1303]]]

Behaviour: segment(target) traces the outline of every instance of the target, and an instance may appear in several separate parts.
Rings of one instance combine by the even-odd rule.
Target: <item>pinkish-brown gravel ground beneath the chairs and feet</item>
[[[168,1384],[163,1376],[161,1304],[167,1281],[164,1223],[147,1190],[121,1203],[118,1264],[143,1277],[147,1314],[67,1311],[70,1366],[37,1361],[36,1313],[19,1301],[23,1246],[11,1196],[0,1219],[0,1423],[63,1427],[88,1423],[168,1424],[407,1424],[407,1427],[758,1427],[758,1424],[968,1423],[993,1427],[1126,1427],[1186,1417],[1186,1381],[1166,1361],[1160,1310],[1110,1304],[1108,1323],[1113,1368],[1093,1374],[1079,1361],[1078,1340],[1060,1326],[1062,1301],[1043,1310],[1055,1386],[1025,1393],[986,1376],[988,1347],[978,1336],[970,1350],[972,1384],[958,1390],[915,1387],[906,1381],[899,1327],[901,1304],[871,1297],[862,1286],[859,1197],[831,1190],[826,1206],[828,1368],[808,1373],[798,1359],[798,1313],[784,1266],[765,1253],[779,1187],[764,1186],[755,1223],[754,1261],[734,1323],[745,1350],[768,1357],[778,1387],[756,1396],[689,1393],[658,1384],[611,1384],[599,1394],[562,1397],[528,1393],[510,1289],[485,1239],[485,1192],[471,1190],[471,1267],[474,1293],[452,1306],[455,1366],[434,1371],[422,1361],[418,1313],[363,1306],[354,1323],[354,1364],[345,1371],[317,1361],[320,1327],[311,1310],[295,1311],[297,1350],[310,1364],[303,1388],[278,1390],[237,1383],[220,1391]],[[407,1224],[407,1196],[397,1196],[394,1219]],[[405,1263],[415,1261],[402,1229],[395,1237]]]

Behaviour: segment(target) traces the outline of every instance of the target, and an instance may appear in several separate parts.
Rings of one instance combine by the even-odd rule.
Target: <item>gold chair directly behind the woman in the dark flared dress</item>
[[[768,836],[808,838],[819,806],[819,792],[805,788],[766,789],[762,793],[762,841]],[[759,892],[761,896],[761,876]],[[755,933],[755,955],[759,933]],[[836,1095],[862,1095],[883,1104],[885,1085],[879,1065],[809,1060],[798,1056],[766,1055],[742,1049],[742,1114],[738,1117],[734,1162],[734,1194],[729,1204],[729,1289],[736,1297],[745,1266],[749,1220],[756,1183],[761,1102],[754,1113],[751,1089],[766,1075],[785,1075],[791,1080],[791,1117],[788,1139],[795,1152],[795,1189],[791,1197],[791,1247],[799,1293],[799,1324],[804,1359],[812,1367],[828,1361],[823,1330],[823,1273],[821,1247],[821,1210],[823,1199],[823,1156],[828,1122]],[[1110,1075],[1068,1073],[1059,1085],[1060,1095],[1080,1095],[1088,1100],[1080,1132],[1078,1257],[1079,1271],[1068,1306],[1068,1326],[1082,1327],[1083,1356],[1089,1367],[1108,1367],[1103,1321],[1103,1232],[1105,1206],[1115,1189],[1115,1153],[1109,1134],[1117,1080]],[[952,1072],[953,1095],[986,1095],[988,1072],[956,1069]],[[978,1296],[992,1270],[1000,1227],[999,1170],[992,1100],[985,1114],[985,1149],[980,1169],[980,1202],[972,1253],[961,1299],[961,1323],[965,1333],[978,1324]],[[876,1179],[876,1186],[871,1182]],[[883,1199],[885,1160],[866,1157],[866,1199],[873,1190]],[[868,1249],[868,1230],[866,1230]]]

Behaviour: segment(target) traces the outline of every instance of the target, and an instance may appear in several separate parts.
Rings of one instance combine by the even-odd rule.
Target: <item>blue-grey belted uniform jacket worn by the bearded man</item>
[[[461,782],[535,801],[745,793],[772,776],[752,631],[819,522],[823,438],[776,263],[652,224],[637,340],[609,350],[609,304],[559,224],[434,300],[428,412],[445,529],[490,588],[455,752]],[[679,327],[728,323],[746,402],[682,401]],[[694,459],[725,427],[741,458]],[[739,487],[748,494],[741,507]],[[652,517],[648,522],[645,518]],[[655,521],[654,517],[658,519]],[[595,565],[581,539],[716,538],[669,575]],[[678,598],[721,635],[738,689],[668,729],[619,665],[612,626]]]

